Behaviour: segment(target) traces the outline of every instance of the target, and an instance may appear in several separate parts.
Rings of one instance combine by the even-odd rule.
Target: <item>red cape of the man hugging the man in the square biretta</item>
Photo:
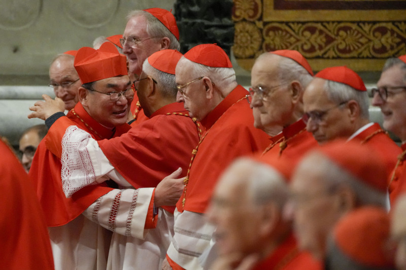
[[[165,105],[148,121],[120,138],[99,141],[103,153],[134,187],[155,187],[176,169],[187,173],[192,150],[199,141],[200,127],[187,114],[183,103]],[[164,207],[174,212],[174,207]]]

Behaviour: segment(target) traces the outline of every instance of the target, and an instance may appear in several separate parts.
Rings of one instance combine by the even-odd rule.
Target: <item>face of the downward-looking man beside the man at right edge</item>
[[[324,91],[325,80],[315,78],[303,94],[304,113],[318,115],[307,123],[307,130],[319,142],[324,143],[335,138],[350,137],[353,133],[346,110],[347,104],[335,104],[328,99]]]

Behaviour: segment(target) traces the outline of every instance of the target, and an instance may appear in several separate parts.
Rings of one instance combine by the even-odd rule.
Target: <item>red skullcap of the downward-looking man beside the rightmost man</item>
[[[361,77],[347,66],[333,66],[324,68],[317,73],[315,77],[346,84],[358,91],[366,91]]]

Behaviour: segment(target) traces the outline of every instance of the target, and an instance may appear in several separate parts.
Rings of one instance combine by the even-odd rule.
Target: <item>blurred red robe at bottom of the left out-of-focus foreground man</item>
[[[321,270],[321,262],[308,252],[299,251],[296,239],[289,236],[267,258],[251,270]]]

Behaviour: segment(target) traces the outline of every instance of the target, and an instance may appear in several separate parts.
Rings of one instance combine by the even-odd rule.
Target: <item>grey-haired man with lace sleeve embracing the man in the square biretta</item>
[[[182,103],[176,102],[175,66],[181,56],[175,50],[161,50],[145,60],[142,79],[134,85],[150,119],[120,138],[95,141],[85,132],[72,129],[66,118],[58,119],[49,133],[50,141],[58,145],[62,141],[62,150],[58,151],[65,157],[62,166],[70,172],[62,174],[67,197],[81,197],[83,190],[109,178],[120,187],[139,188],[136,192],[112,190],[84,212],[90,220],[114,232],[108,259],[112,269],[160,268],[173,235],[174,207],[167,205],[178,201],[183,178],[172,178],[181,175],[180,167],[186,175],[200,134],[198,123],[189,117]],[[92,93],[99,91],[88,84],[84,87],[91,94],[106,94]],[[124,93],[120,94],[126,96]],[[115,96],[120,99],[121,95]],[[77,161],[77,157],[83,158]],[[173,171],[170,180],[160,182]]]

